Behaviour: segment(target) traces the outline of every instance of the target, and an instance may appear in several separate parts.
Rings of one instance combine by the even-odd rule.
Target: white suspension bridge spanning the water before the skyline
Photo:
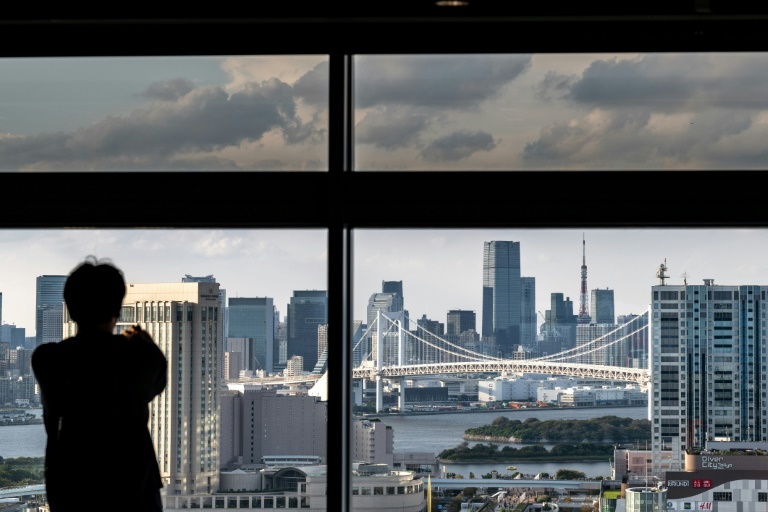
[[[600,334],[561,352],[512,359],[490,356],[478,351],[480,343],[449,340],[422,325],[408,331],[405,320],[404,313],[378,312],[353,348],[352,378],[376,382],[377,410],[385,379],[423,375],[536,373],[632,382],[643,391],[650,383],[647,311],[621,325],[585,326],[586,332]],[[640,357],[629,357],[633,346],[640,347]]]

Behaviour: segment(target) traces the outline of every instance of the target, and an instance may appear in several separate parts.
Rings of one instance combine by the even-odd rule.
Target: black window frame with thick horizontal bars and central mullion
[[[328,337],[341,340],[331,344],[336,354],[328,361],[328,444],[334,448],[328,450],[327,503],[328,510],[350,510],[348,352],[356,228],[768,227],[768,209],[762,208],[764,171],[352,172],[353,55],[768,51],[762,37],[768,25],[764,13],[713,13],[706,0],[695,6],[685,2],[685,7],[663,4],[607,15],[586,7],[574,13],[565,3],[548,4],[548,13],[510,12],[510,7],[499,13],[492,7],[455,15],[413,2],[407,15],[356,11],[328,16],[311,3],[286,4],[282,12],[187,19],[177,14],[150,19],[141,12],[96,19],[73,6],[47,17],[17,14],[0,20],[0,57],[328,55],[329,171],[157,172],[149,189],[142,185],[145,173],[2,173],[0,227],[327,229]],[[29,44],[33,40],[55,44]],[[386,208],[371,208],[370,191],[394,179],[407,183],[399,187],[402,195],[388,198]],[[211,183],[220,190],[208,192]],[[418,189],[443,193],[408,193]],[[259,190],[270,192],[255,198]],[[520,190],[524,194],[518,197],[515,191]],[[189,197],[204,199],[206,207],[190,210]],[[702,207],[681,206],[686,198]],[[713,199],[717,208],[703,206]]]

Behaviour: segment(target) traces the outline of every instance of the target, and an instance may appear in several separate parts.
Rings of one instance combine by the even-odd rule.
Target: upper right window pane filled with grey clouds
[[[765,169],[765,53],[355,58],[355,168]]]

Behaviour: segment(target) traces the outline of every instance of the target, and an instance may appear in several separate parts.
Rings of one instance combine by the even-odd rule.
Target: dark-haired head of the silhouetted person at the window
[[[125,297],[123,273],[105,260],[88,256],[64,283],[69,316],[78,324],[106,322],[120,317]]]

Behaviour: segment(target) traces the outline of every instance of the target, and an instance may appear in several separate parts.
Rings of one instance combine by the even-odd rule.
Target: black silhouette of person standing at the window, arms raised
[[[64,284],[77,333],[32,353],[51,512],[163,508],[148,404],[165,389],[168,366],[138,325],[114,333],[125,293],[117,267],[87,257]]]

